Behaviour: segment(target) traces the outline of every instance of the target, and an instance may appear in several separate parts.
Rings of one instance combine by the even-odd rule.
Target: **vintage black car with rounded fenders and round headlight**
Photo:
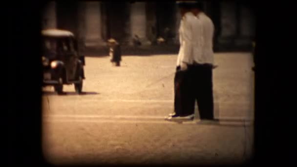
[[[85,79],[85,57],[79,55],[72,32],[59,29],[42,30],[43,86],[52,85],[63,94],[63,84],[74,84],[82,93]]]

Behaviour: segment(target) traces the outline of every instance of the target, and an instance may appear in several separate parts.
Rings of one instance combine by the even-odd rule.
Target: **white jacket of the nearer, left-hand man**
[[[191,12],[187,12],[181,20],[179,28],[180,48],[176,65],[192,64],[202,61],[202,24]]]

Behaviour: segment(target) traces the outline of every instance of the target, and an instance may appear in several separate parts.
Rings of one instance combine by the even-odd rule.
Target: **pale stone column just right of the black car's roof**
[[[101,46],[101,5],[98,1],[85,2],[85,46]]]

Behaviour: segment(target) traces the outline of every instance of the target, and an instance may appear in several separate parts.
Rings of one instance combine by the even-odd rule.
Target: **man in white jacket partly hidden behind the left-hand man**
[[[213,92],[212,92],[212,69],[215,68],[213,58],[213,33],[212,20],[203,12],[202,3],[195,3],[192,13],[198,18],[202,25],[202,55],[194,55],[194,63],[188,66],[191,78],[191,100],[189,114],[194,113],[195,100],[197,100],[200,119],[212,120],[213,115]],[[196,47],[200,47],[197,45]]]

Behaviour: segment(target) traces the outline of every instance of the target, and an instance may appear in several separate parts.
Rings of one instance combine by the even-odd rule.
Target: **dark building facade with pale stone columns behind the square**
[[[204,1],[215,26],[216,50],[241,50],[255,38],[255,13],[246,1]],[[42,10],[42,28],[72,31],[84,47],[100,47],[114,38],[132,45],[137,35],[143,45],[162,37],[179,44],[180,15],[175,1],[52,1]]]

